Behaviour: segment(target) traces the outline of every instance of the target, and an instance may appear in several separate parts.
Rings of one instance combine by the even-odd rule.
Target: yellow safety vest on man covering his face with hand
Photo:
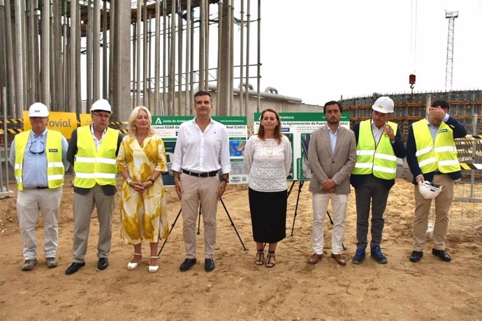
[[[435,144],[428,129],[428,120],[421,119],[412,126],[416,145],[415,156],[423,174],[439,170],[442,173],[458,172],[457,148],[453,141],[453,130],[443,121],[435,137]]]

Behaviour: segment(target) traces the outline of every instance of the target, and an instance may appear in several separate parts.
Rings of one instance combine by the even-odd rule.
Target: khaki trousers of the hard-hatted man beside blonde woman
[[[102,186],[98,184],[91,188],[86,195],[73,193],[73,262],[84,262],[94,204],[96,205],[99,223],[97,256],[109,256],[114,197],[115,195],[104,195]]]

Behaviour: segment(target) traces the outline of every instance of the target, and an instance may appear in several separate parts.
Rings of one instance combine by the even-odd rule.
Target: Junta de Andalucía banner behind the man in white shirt
[[[164,141],[168,172],[162,174],[164,186],[173,186],[172,162],[174,149],[177,141],[179,127],[184,121],[192,120],[192,116],[153,116],[152,127],[157,135]],[[229,184],[247,184],[247,174],[243,166],[244,146],[247,141],[247,118],[246,117],[223,117],[213,116],[212,119],[224,124],[228,130],[229,155],[231,156],[231,173]]]

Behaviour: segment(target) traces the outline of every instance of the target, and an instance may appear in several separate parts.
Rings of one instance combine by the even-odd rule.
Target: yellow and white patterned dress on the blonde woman
[[[127,170],[133,181],[147,181],[154,170],[167,172],[166,151],[161,137],[145,137],[140,146],[135,136],[126,135],[117,156],[118,172]],[[131,188],[126,181],[121,195],[121,237],[124,244],[139,244],[142,240],[156,243],[168,237],[166,190],[159,176],[143,193]]]

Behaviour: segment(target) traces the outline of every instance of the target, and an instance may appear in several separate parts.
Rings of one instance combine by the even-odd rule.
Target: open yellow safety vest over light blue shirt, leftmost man
[[[15,136],[15,179],[18,191],[23,191],[22,170],[24,154],[31,130]],[[62,163],[62,135],[55,130],[47,130],[45,154],[47,155],[47,181],[49,188],[64,185],[64,163]]]

